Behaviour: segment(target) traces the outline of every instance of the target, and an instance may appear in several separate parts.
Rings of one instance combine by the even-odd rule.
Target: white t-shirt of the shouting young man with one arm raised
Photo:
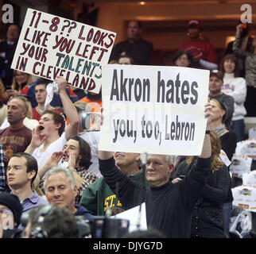
[[[45,164],[45,162],[48,160],[53,152],[62,151],[66,142],[67,140],[65,137],[65,133],[62,133],[62,135],[57,140],[52,142],[52,144],[48,145],[48,148],[46,148],[45,152],[40,152],[44,144],[41,144],[40,147],[36,148],[32,156],[37,159],[38,168],[42,167]]]

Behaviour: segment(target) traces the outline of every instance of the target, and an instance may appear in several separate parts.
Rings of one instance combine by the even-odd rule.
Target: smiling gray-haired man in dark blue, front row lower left
[[[83,206],[75,204],[76,180],[72,171],[65,167],[52,167],[45,174],[45,196],[52,205],[66,207],[75,216],[92,220],[93,216]]]

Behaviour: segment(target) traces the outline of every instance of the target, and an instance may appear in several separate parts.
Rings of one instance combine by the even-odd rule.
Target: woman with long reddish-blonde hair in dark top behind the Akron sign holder
[[[219,159],[221,143],[214,131],[211,139],[211,173],[192,213],[191,238],[226,238],[223,229],[223,203],[230,189],[227,166]],[[186,177],[196,164],[196,156],[181,162],[174,173],[173,183]],[[176,179],[175,179],[176,178]]]

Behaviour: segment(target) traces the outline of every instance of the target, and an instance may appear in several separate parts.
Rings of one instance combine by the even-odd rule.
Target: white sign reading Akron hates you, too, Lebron
[[[209,71],[103,65],[102,151],[200,155]]]

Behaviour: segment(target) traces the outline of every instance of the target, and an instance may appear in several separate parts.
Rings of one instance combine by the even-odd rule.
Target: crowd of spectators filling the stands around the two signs
[[[187,29],[189,40],[173,55],[173,66],[210,70],[202,154],[149,155],[143,171],[138,153],[99,151],[101,90],[68,87],[58,76],[58,94],[46,105],[53,80],[10,68],[20,28],[9,26],[0,43],[0,211],[13,215],[14,226],[0,226],[1,237],[77,237],[73,215],[93,221],[142,202],[148,225],[160,235],[229,237],[232,181],[219,154],[231,160],[237,142],[246,139],[245,117],[256,117],[256,37],[245,45],[248,25],[237,25],[235,41],[218,63],[200,21],[188,21]],[[130,21],[127,40],[114,46],[109,64],[151,64],[152,56],[153,43],[142,38],[140,22]],[[27,225],[21,223],[24,214],[30,216]],[[53,214],[60,234],[53,222],[47,225]],[[38,229],[41,217],[45,229]],[[66,224],[73,227],[69,235]]]

